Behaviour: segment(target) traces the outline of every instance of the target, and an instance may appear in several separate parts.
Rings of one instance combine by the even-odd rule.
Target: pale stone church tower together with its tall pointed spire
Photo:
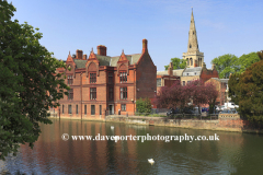
[[[186,65],[188,68],[203,67],[204,63],[204,52],[201,52],[198,48],[193,9],[188,32],[187,52],[183,52],[183,59],[186,59]]]

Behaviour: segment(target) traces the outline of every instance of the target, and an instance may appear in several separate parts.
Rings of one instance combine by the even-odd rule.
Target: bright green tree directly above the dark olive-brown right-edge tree
[[[240,69],[238,70],[239,73],[242,73],[244,72],[244,70],[247,68],[249,68],[251,65],[253,65],[254,62],[258,62],[260,61],[260,57],[258,56],[256,52],[250,52],[250,54],[244,54],[242,55],[241,57],[239,57],[239,66],[240,66]]]

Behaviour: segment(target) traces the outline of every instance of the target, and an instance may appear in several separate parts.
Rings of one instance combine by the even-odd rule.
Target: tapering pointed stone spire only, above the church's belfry
[[[190,51],[199,51],[193,8],[192,8],[192,15],[191,15],[190,32],[188,32],[188,46],[187,46],[187,52],[190,52]]]

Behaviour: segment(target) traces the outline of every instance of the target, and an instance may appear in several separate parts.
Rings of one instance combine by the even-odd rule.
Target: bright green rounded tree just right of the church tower
[[[240,69],[238,57],[231,54],[214,58],[211,63],[215,63],[220,79],[228,79],[230,73],[235,73]]]

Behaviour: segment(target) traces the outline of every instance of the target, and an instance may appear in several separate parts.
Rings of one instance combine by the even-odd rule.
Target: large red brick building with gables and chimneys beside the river
[[[103,119],[105,115],[134,115],[137,98],[153,98],[157,91],[157,67],[142,39],[141,54],[110,57],[105,46],[98,46],[89,58],[77,50],[68,55],[65,70],[69,95],[59,101],[60,117]]]

